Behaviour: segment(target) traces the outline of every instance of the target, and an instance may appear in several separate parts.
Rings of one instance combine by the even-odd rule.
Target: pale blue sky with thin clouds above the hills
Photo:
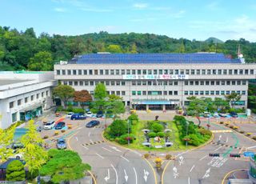
[[[255,0],[0,0],[0,26],[39,35],[153,33],[256,42]]]

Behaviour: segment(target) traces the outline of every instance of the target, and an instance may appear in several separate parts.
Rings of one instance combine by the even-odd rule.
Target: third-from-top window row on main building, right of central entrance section
[[[225,95],[225,94],[243,94],[246,95],[246,90],[185,90],[185,95]]]

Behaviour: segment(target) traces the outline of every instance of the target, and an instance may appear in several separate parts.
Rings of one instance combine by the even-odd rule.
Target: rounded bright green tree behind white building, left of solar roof
[[[49,71],[53,70],[53,67],[53,58],[48,51],[40,51],[37,54],[34,54],[34,57],[30,58],[30,62],[28,65],[29,70],[36,71]]]

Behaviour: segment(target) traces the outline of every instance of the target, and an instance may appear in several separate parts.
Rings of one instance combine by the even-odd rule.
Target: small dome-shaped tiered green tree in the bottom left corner
[[[21,161],[13,160],[6,168],[6,181],[25,181],[25,170]]]

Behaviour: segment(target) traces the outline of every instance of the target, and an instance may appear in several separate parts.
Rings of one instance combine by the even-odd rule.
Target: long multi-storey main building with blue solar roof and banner
[[[137,110],[173,110],[187,106],[187,97],[225,98],[242,95],[235,106],[247,106],[256,64],[224,54],[84,54],[54,66],[55,79],[75,90],[94,94],[98,82],[108,94],[121,96]]]

